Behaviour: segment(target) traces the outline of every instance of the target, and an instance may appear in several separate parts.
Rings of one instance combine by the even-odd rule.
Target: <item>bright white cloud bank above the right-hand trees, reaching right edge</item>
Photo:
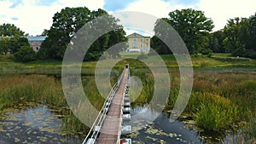
[[[172,1],[151,0],[149,2],[148,0],[138,0],[135,3],[130,3],[124,10],[153,14],[159,18],[168,17],[168,14],[176,9],[202,10],[208,18],[213,20],[215,26],[213,31],[218,31],[224,28],[229,19],[253,15],[256,12],[255,5],[255,0],[199,0],[198,3],[193,5],[177,4],[172,3]],[[131,32],[137,32],[137,30],[127,31],[128,34],[131,34]]]

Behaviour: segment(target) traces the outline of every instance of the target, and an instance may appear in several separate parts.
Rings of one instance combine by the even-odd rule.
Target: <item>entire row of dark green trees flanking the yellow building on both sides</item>
[[[52,26],[42,33],[44,36],[47,35],[47,38],[37,54],[29,47],[26,37],[20,37],[24,36],[25,32],[11,24],[1,25],[0,34],[5,37],[2,37],[0,41],[0,54],[13,54],[15,60],[18,61],[62,60],[74,34],[84,24],[102,15],[108,15],[109,25],[119,27],[119,29],[102,35],[90,45],[84,60],[98,60],[106,49],[116,43],[127,41],[127,38],[123,26],[118,24],[118,19],[103,9],[90,11],[86,7],[65,8],[61,9],[61,12],[55,13]],[[160,55],[166,55],[172,54],[172,51],[157,36],[166,36],[166,41],[172,37],[166,33],[168,32],[166,24],[162,21],[170,24],[178,32],[191,55],[229,52],[234,56],[256,58],[256,14],[249,18],[230,19],[223,29],[212,32],[213,21],[207,18],[204,12],[195,9],[174,10],[168,14],[167,18],[155,22],[155,35],[151,37],[151,48]],[[99,28],[99,31],[103,31],[103,27],[102,30]],[[120,56],[119,52],[122,50],[125,50],[125,45],[120,49],[112,49],[111,52],[108,52],[109,54],[104,55],[117,57]]]

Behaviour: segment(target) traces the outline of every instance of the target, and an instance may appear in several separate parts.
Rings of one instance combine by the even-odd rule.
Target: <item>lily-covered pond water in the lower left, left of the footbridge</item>
[[[64,135],[61,132],[61,118],[46,106],[4,109],[0,121],[0,144],[45,143],[58,144],[81,143],[76,135]]]

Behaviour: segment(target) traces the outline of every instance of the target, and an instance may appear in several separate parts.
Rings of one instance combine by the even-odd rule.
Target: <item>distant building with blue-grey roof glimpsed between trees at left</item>
[[[32,47],[32,49],[35,52],[38,52],[38,50],[41,48],[41,44],[44,42],[46,36],[36,36],[36,37],[29,36],[26,38],[28,40],[28,43]]]

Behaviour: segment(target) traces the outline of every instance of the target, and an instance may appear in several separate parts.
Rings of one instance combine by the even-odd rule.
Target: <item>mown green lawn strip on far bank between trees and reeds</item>
[[[138,53],[122,53],[122,59],[116,67],[123,67],[130,63],[131,67],[145,67],[140,60],[136,60]],[[256,60],[247,58],[230,57],[230,54],[214,53],[212,57],[207,55],[191,55],[193,67],[253,67],[256,68]],[[158,56],[149,56],[145,59],[148,62],[158,62]],[[160,55],[168,68],[178,67],[174,55]],[[96,67],[96,61],[83,62],[82,73],[91,75]],[[11,55],[0,56],[0,74],[9,73],[40,73],[40,74],[61,74],[61,60],[36,60],[28,63],[15,62]],[[155,64],[155,66],[158,66]]]

